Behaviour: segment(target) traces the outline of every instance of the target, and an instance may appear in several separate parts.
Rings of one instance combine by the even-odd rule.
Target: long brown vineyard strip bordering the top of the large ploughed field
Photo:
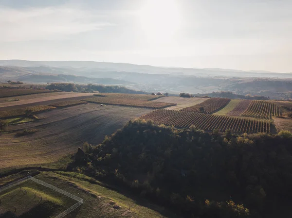
[[[94,97],[89,99],[84,99],[82,101],[88,101],[92,103],[99,104],[110,104],[110,105],[119,105],[119,106],[130,106],[130,107],[144,107],[151,109],[160,109],[170,106],[175,106],[175,103],[166,103],[159,101],[145,101],[145,100],[135,100],[128,98],[108,98],[108,97]]]

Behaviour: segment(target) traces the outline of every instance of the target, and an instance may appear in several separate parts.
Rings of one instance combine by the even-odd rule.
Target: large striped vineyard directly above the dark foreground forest
[[[165,109],[150,112],[141,118],[152,119],[160,124],[179,128],[189,128],[191,125],[194,125],[197,129],[205,131],[218,129],[219,132],[224,132],[225,130],[230,129],[234,133],[270,133],[273,125],[267,120],[261,121],[250,118],[228,117]]]

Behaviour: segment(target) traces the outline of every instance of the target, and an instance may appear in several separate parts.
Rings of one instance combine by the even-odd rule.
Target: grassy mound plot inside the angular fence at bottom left
[[[31,180],[0,192],[0,199],[0,214],[11,211],[17,216],[26,217],[34,210],[38,211],[37,213],[43,212],[44,217],[55,217],[77,202]],[[46,205],[50,207],[42,211]]]

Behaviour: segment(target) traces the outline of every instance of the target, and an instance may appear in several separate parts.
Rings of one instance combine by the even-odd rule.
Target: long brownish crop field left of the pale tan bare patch
[[[82,101],[87,101],[91,103],[98,104],[110,104],[119,106],[130,106],[130,107],[144,107],[151,109],[165,108],[169,106],[175,106],[175,103],[166,103],[160,101],[150,101],[152,99],[157,99],[159,96],[154,95],[135,95],[135,94],[111,94],[109,93],[103,95],[94,95],[93,98],[84,99]]]

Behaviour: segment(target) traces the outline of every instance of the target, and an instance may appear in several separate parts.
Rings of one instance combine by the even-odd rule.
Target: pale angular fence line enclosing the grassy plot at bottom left
[[[27,176],[27,177],[24,177],[24,178],[22,178],[22,179],[16,181],[16,182],[13,182],[13,183],[10,183],[10,184],[7,184],[7,185],[4,185],[4,186],[0,187],[0,192],[5,191],[5,190],[7,190],[8,188],[11,188],[11,187],[16,186],[16,185],[18,185],[18,184],[24,183],[24,182],[26,182],[26,181],[28,181],[28,180],[32,180],[32,181],[34,181],[35,183],[38,183],[38,184],[41,184],[41,185],[43,185],[43,186],[45,186],[45,187],[51,188],[51,189],[55,190],[56,192],[59,192],[59,193],[61,193],[61,194],[63,194],[63,195],[66,195],[66,196],[69,197],[69,198],[72,198],[72,199],[75,200],[75,201],[78,201],[78,202],[75,203],[73,206],[69,207],[67,210],[63,211],[62,213],[60,213],[60,214],[59,214],[58,216],[56,216],[55,218],[62,218],[62,217],[65,217],[65,216],[66,216],[67,214],[69,214],[71,211],[73,211],[74,209],[76,209],[77,207],[79,207],[81,204],[83,204],[83,199],[82,199],[82,198],[79,198],[79,197],[77,197],[77,196],[75,196],[75,195],[73,195],[73,194],[70,194],[70,193],[67,192],[67,191],[64,191],[64,190],[62,190],[62,189],[60,189],[60,188],[57,188],[57,187],[55,187],[54,185],[51,185],[51,184],[45,183],[45,182],[43,182],[43,181],[41,181],[41,180],[39,180],[39,179],[36,179],[36,178],[34,178],[34,177],[32,177],[32,176]]]

